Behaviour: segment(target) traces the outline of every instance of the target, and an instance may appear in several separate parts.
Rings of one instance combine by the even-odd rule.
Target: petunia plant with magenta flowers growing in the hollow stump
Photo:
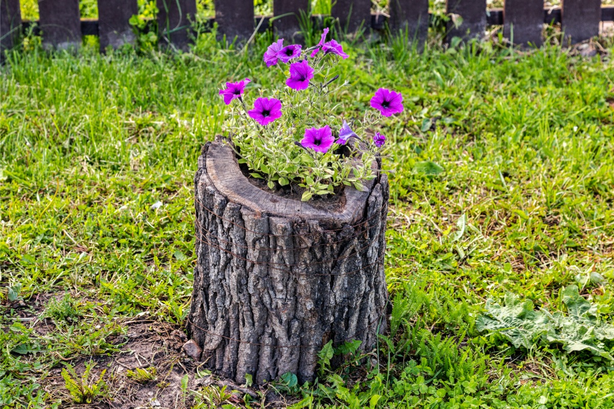
[[[340,83],[335,69],[348,54],[327,35],[325,28],[310,48],[284,46],[283,39],[267,48],[263,61],[279,67],[285,86],[256,92],[246,78],[220,90],[230,105],[227,130],[239,163],[271,189],[298,186],[303,201],[335,194],[343,186],[363,189],[365,181],[375,178],[373,162],[386,143],[385,136],[370,129],[381,116],[403,111],[400,93],[379,88],[371,98],[374,110],[362,117],[338,115],[338,91],[349,83]]]

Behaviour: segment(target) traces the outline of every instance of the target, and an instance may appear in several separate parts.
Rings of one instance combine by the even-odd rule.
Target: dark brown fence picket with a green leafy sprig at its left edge
[[[463,40],[479,39],[486,31],[486,0],[446,0],[446,12],[459,15],[462,24],[455,26],[454,21],[448,23],[446,40],[461,37]]]

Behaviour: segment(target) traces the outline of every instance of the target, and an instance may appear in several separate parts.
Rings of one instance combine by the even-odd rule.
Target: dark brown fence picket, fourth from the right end
[[[410,39],[421,47],[429,32],[429,0],[391,0],[390,26],[394,31],[407,30]]]

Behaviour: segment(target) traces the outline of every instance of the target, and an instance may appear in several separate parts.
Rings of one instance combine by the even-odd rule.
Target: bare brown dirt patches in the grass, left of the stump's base
[[[44,318],[44,305],[63,296],[63,292],[39,294],[29,305],[20,302],[12,307],[18,311],[20,321],[29,321],[36,335],[46,337],[55,330],[55,324]],[[106,393],[89,404],[75,403],[61,375],[64,365],[60,363],[40,380],[41,388],[49,394],[49,402],[61,400],[61,408],[182,409],[228,404],[246,407],[246,397],[252,408],[286,407],[299,400],[280,396],[270,386],[246,388],[201,369],[201,363],[193,361],[183,349],[187,336],[181,326],[147,318],[125,319],[118,324],[123,328],[122,334],[107,339],[117,346],[118,352],[75,359],[60,357],[60,361],[72,365],[79,378],[86,365],[90,365],[89,384],[96,383],[104,370]],[[36,360],[36,356],[29,359]],[[138,369],[146,370],[149,374],[146,378],[150,379],[135,376]]]

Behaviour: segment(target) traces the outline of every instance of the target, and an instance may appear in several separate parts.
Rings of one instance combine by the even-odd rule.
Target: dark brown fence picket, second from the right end
[[[505,0],[503,36],[514,44],[542,45],[543,0]]]

